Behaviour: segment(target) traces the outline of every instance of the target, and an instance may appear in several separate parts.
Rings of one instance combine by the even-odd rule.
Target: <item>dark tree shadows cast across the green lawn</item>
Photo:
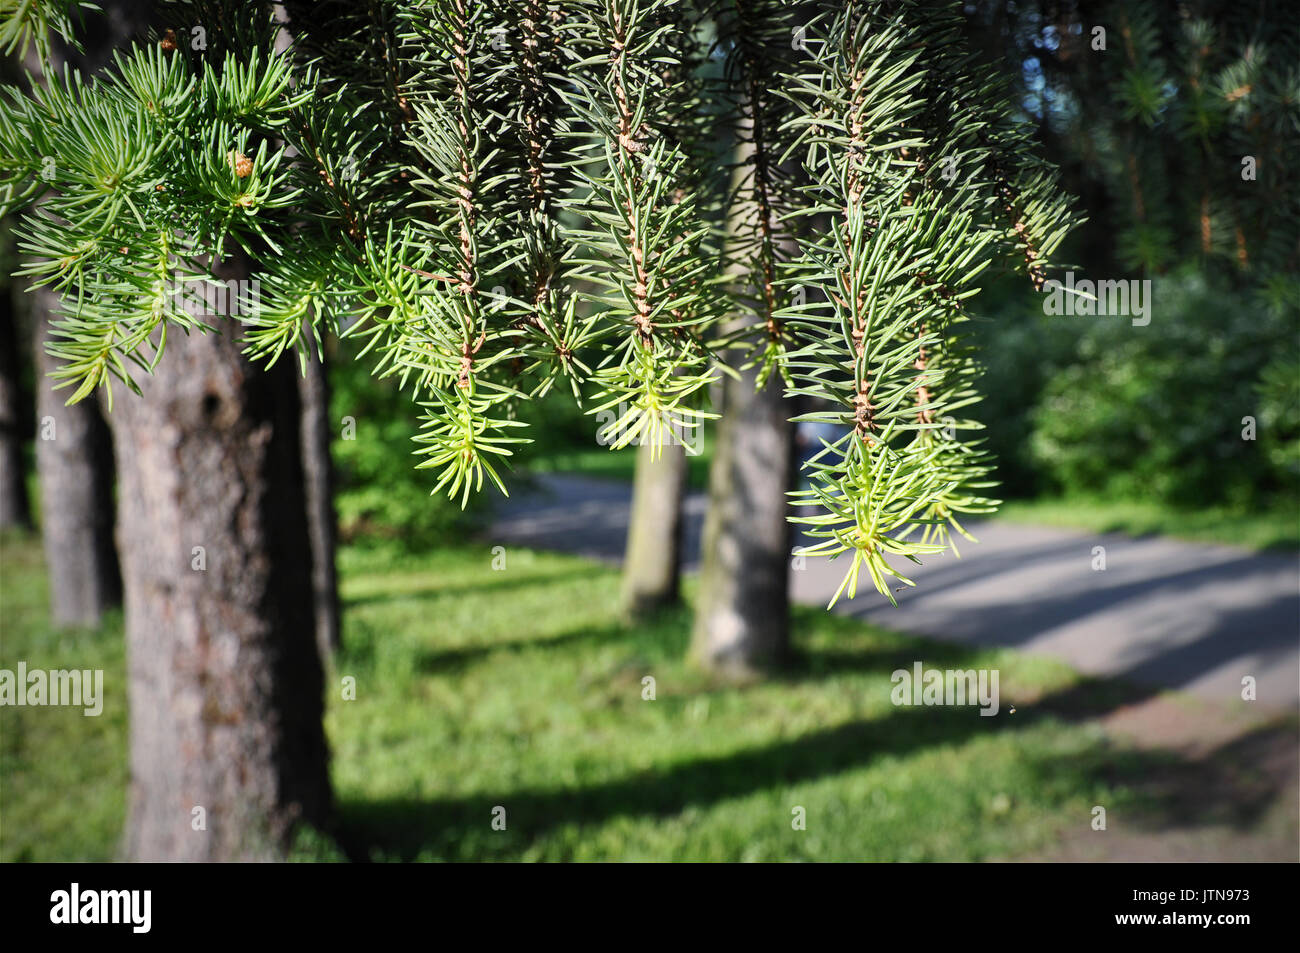
[[[586,638],[615,638],[619,629],[590,636],[573,632],[549,642],[439,654],[434,667],[469,664],[491,651],[547,645],[572,646]],[[627,634],[624,632],[624,634]],[[909,668],[923,658],[928,666],[975,667],[976,653],[952,644],[904,645],[868,651],[798,653],[786,680],[823,679],[842,672],[880,672]],[[985,657],[987,660],[987,657]],[[445,668],[443,668],[445,670]],[[703,692],[707,694],[707,690]],[[599,784],[558,788],[515,788],[456,798],[387,798],[342,805],[341,842],[354,859],[381,855],[391,859],[456,858],[510,859],[519,857],[540,836],[564,826],[595,826],[621,816],[668,818],[693,807],[708,807],[729,798],[816,781],[868,766],[883,758],[909,757],[936,746],[957,746],[989,731],[1024,732],[1043,722],[1082,722],[1153,694],[1153,689],[1126,683],[1084,680],[1037,699],[1031,709],[997,718],[974,707],[898,707],[883,718],[863,719],[824,731],[783,738],[724,757],[699,758],[666,770],[629,774]],[[1190,762],[1165,750],[1089,746],[1065,757],[1044,757],[1030,767],[1044,779],[1043,788],[1088,792],[1106,785],[1126,788],[1141,805],[1149,827],[1228,823],[1245,827],[1275,801],[1283,788],[1279,772],[1249,771],[1261,750],[1277,751],[1292,744],[1294,724],[1275,724],[1216,749]],[[1243,767],[1244,766],[1244,767]],[[1284,777],[1286,772],[1280,772]],[[506,806],[507,831],[485,837],[497,805]],[[467,855],[467,845],[469,855]]]

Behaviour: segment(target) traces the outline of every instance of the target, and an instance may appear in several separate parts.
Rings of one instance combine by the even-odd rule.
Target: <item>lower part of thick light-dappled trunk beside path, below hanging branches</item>
[[[723,378],[722,417],[708,472],[692,658],[745,677],[789,651],[790,524],[785,493],[794,476],[794,425],[772,376]]]

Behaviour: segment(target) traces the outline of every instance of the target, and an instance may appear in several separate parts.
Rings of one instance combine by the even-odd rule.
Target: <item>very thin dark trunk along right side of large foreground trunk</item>
[[[312,538],[312,603],[316,646],[321,660],[333,658],[339,645],[338,572],[334,547],[338,517],[334,512],[334,462],[330,456],[329,368],[325,354],[312,354],[298,382],[303,402],[303,477],[307,528]]]

